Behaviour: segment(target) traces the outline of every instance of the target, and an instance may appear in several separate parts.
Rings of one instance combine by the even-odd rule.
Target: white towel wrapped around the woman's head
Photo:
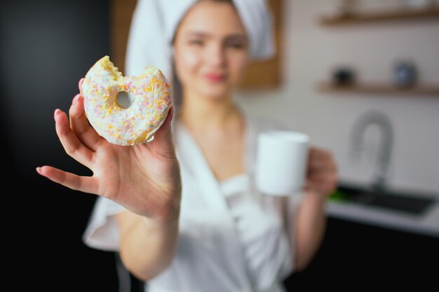
[[[135,76],[146,66],[163,71],[172,82],[171,41],[175,29],[188,9],[197,0],[138,0],[126,50],[126,75]],[[272,57],[272,15],[266,0],[234,0],[250,39],[250,58],[263,60]]]

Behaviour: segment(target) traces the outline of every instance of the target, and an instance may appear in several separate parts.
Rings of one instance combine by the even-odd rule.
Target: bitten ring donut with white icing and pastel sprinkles
[[[119,92],[129,92],[131,105],[123,108]],[[84,111],[90,125],[112,144],[131,146],[151,139],[171,105],[170,84],[156,67],[139,76],[124,77],[104,56],[88,70],[82,83]]]

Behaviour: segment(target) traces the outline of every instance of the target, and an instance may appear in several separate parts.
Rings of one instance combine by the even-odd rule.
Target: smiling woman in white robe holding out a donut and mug
[[[88,125],[76,95],[69,120],[55,111],[56,131],[93,176],[49,166],[37,171],[100,195],[84,239],[119,250],[128,270],[147,281],[146,291],[283,291],[283,279],[304,269],[320,246],[335,163],[311,148],[302,200],[255,190],[256,136],[275,126],[245,116],[232,94],[249,56],[258,55],[258,34],[250,32],[243,7],[264,12],[266,4],[183,2],[172,32],[182,92],[175,116],[173,109],[148,144],[115,146]]]

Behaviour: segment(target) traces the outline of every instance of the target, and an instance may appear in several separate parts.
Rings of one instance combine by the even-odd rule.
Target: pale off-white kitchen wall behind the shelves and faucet
[[[349,133],[367,110],[384,111],[393,123],[389,186],[439,193],[439,96],[328,95],[316,83],[349,64],[358,81],[392,81],[400,57],[417,64],[419,82],[439,85],[439,21],[386,22],[322,27],[318,17],[337,10],[337,0],[285,0],[285,82],[278,90],[240,92],[245,111],[259,113],[309,133],[311,143],[335,154],[342,181],[369,183],[379,132],[366,133],[368,150],[349,159]],[[366,6],[367,4],[367,6]],[[362,8],[398,6],[399,1],[360,1]]]

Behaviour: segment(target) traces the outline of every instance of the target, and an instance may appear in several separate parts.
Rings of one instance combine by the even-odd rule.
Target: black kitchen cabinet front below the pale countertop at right
[[[437,286],[439,238],[328,218],[316,257],[288,291],[428,291]]]

